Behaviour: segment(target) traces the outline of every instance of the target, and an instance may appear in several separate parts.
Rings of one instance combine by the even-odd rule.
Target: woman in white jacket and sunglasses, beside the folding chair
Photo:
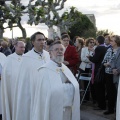
[[[86,46],[82,48],[81,51],[81,64],[80,64],[80,71],[81,73],[90,73],[92,69],[92,63],[87,58],[88,55],[92,56],[94,52],[94,38],[88,38],[86,40]],[[86,88],[88,85],[88,81],[84,81],[84,87]],[[90,93],[87,91],[85,100],[89,100]]]

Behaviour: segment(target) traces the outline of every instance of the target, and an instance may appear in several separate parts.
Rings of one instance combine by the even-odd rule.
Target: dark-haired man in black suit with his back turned
[[[95,69],[94,69],[94,78],[98,72],[98,69],[103,61],[104,55],[106,53],[106,47],[104,45],[104,40],[105,38],[103,36],[98,36],[97,37],[97,47],[95,49],[95,54],[93,56],[88,56],[89,60],[95,64]],[[94,81],[94,90],[95,90],[95,95],[96,95],[96,101],[98,103],[98,107],[96,110],[99,109],[106,109],[106,103],[105,103],[105,85],[103,82],[97,83]]]

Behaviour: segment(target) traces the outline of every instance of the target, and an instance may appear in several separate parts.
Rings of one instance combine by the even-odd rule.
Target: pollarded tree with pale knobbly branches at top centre
[[[45,23],[49,28],[58,25],[61,21],[58,11],[64,8],[65,2],[66,0],[37,0],[34,5],[29,2],[28,24]]]

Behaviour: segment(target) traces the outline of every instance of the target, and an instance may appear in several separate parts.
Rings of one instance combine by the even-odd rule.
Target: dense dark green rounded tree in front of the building
[[[84,38],[96,36],[96,27],[86,15],[83,15],[76,8],[72,8],[72,12],[69,12],[68,15],[71,16],[71,22],[74,21],[74,24],[71,24],[69,28],[69,34],[72,39],[74,36],[82,36]]]

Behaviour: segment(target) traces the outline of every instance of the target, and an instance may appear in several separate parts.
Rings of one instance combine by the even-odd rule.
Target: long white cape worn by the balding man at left
[[[14,96],[16,89],[16,82],[20,63],[22,60],[21,55],[13,53],[6,59],[6,63],[2,71],[2,119],[12,120],[14,116]]]

